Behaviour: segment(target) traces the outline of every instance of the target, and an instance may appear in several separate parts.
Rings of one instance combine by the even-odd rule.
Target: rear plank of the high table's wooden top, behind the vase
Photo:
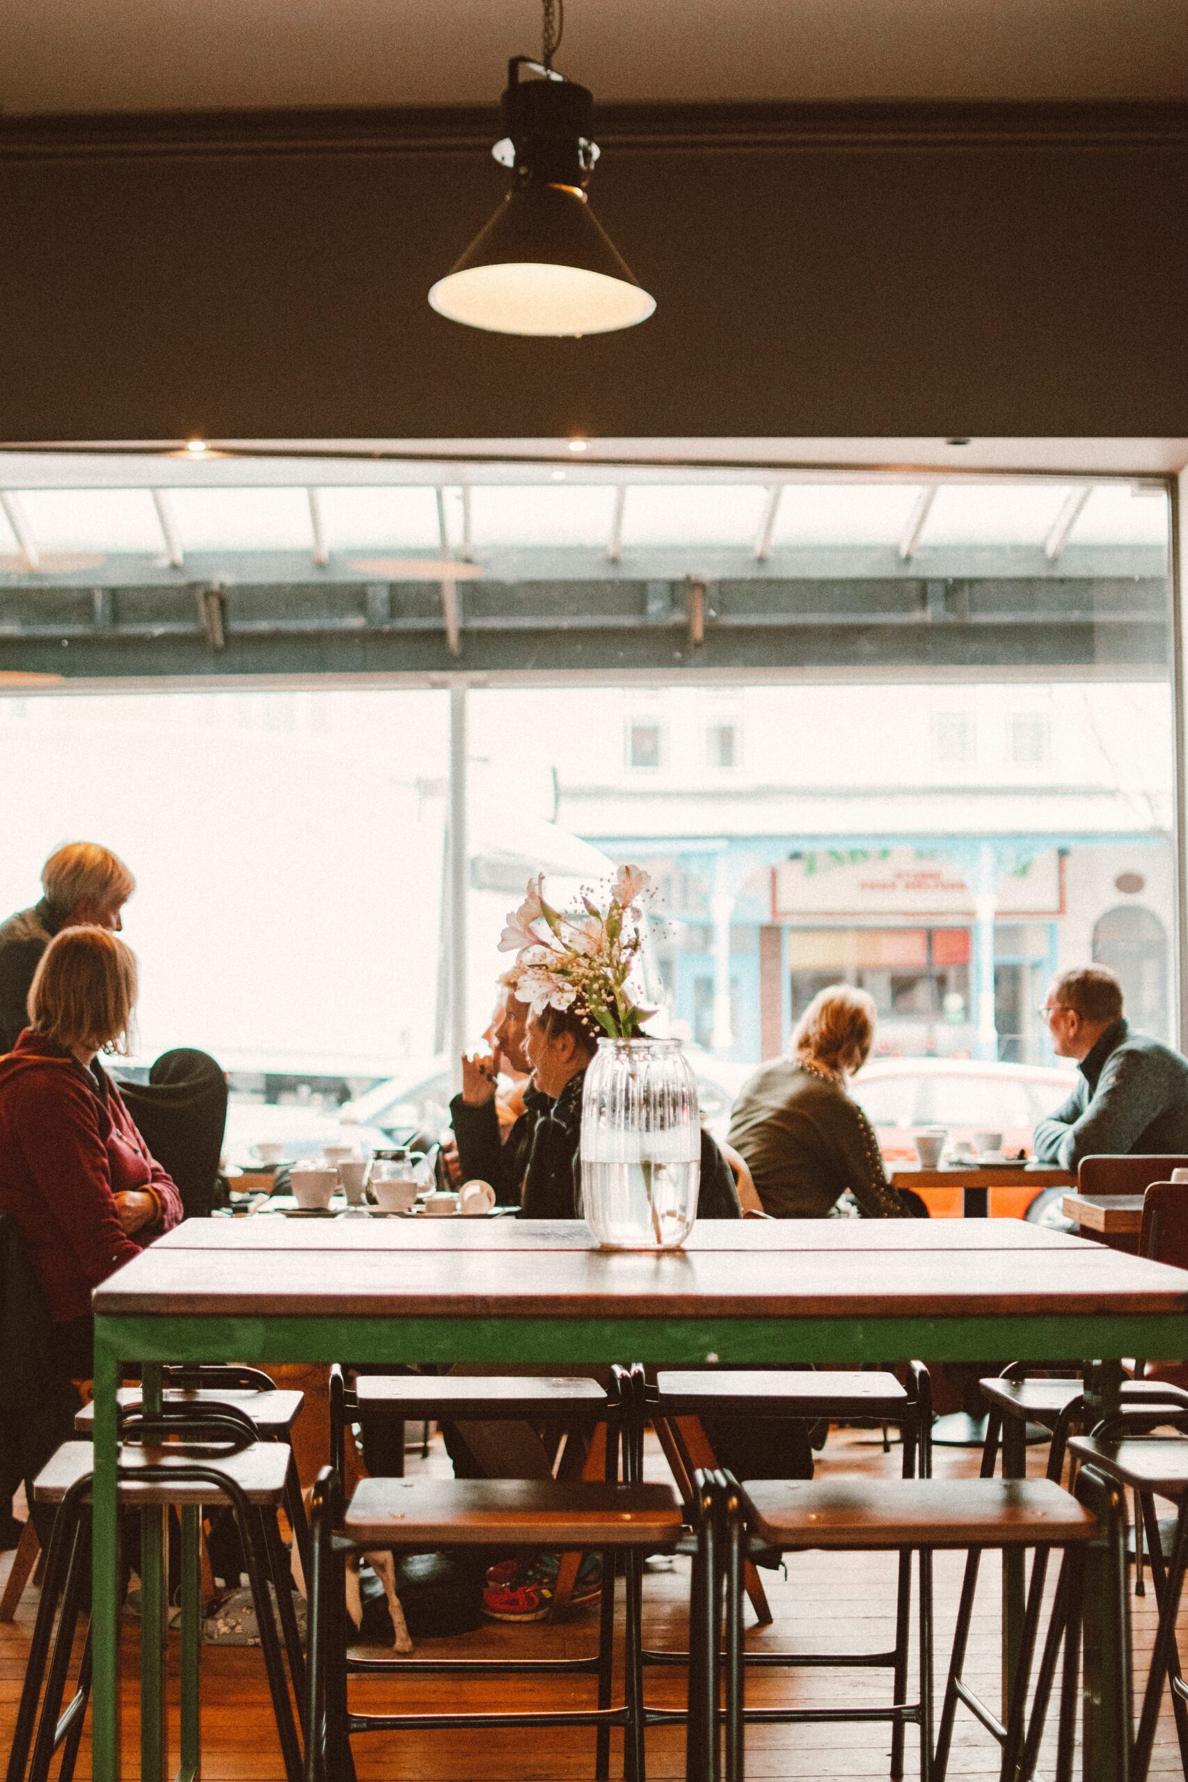
[[[919,1226],[928,1226],[923,1238]],[[183,1219],[153,1251],[597,1251],[581,1219]],[[698,1219],[689,1251],[1031,1251],[1081,1238],[1024,1219]]]

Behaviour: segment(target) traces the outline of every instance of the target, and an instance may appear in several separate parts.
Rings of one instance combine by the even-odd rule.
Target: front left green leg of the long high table
[[[94,1782],[119,1782],[119,1520],[116,1515],[116,1351],[94,1331],[93,1582],[94,1673],[91,1768]]]

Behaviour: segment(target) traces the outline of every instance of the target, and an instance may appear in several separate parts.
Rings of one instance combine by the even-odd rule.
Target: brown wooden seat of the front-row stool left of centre
[[[360,1479],[342,1534],[354,1547],[668,1547],[668,1484],[584,1479]]]

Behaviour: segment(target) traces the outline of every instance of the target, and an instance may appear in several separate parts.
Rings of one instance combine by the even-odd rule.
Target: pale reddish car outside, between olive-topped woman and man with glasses
[[[978,1130],[1003,1133],[1008,1157],[1031,1155],[1037,1121],[1069,1096],[1072,1069],[1040,1064],[996,1064],[987,1059],[875,1059],[851,1085],[878,1133],[887,1167],[914,1164],[921,1126],[944,1126],[949,1144],[972,1140]],[[960,1219],[962,1190],[917,1189],[933,1219]],[[1047,1199],[1044,1199],[1047,1192]],[[1060,1219],[1058,1190],[990,1189],[992,1219]]]

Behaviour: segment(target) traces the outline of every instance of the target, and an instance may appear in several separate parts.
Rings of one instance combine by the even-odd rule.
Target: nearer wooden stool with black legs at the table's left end
[[[267,1588],[271,1582],[276,1591],[289,1680],[296,1702],[301,1704],[305,1655],[292,1604],[289,1559],[276,1525],[276,1513],[285,1502],[292,1456],[278,1443],[255,1442],[248,1420],[226,1408],[203,1408],[201,1413],[183,1417],[176,1413],[162,1413],[160,1417],[134,1413],[123,1418],[121,1433],[134,1440],[121,1440],[118,1452],[119,1504],[126,1509],[176,1508],[182,1515],[182,1773],[196,1775],[201,1755],[198,1679],[201,1509],[208,1504],[224,1504],[235,1516],[248,1563],[285,1777],[287,1782],[301,1782],[301,1745],[285,1680],[281,1638]],[[61,1782],[69,1782],[78,1753],[91,1691],[89,1632],[75,1695],[61,1718],[59,1709],[89,1577],[87,1506],[93,1467],[94,1449],[89,1442],[64,1442],[34,1484],[37,1500],[57,1504],[57,1515],[12,1734],[7,1782],[23,1782],[30,1745],[28,1782],[46,1782],[53,1752],[59,1746],[64,1746]],[[53,1634],[59,1602],[62,1613],[57,1634]],[[41,1695],[43,1682],[45,1695]],[[39,1698],[41,1713],[37,1713]]]

